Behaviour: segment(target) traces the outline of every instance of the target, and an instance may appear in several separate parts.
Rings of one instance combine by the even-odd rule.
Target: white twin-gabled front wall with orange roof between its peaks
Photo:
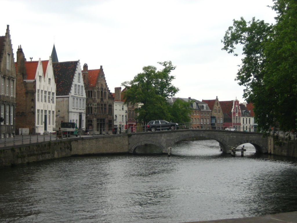
[[[53,132],[53,127],[56,126],[56,82],[51,56],[48,61],[41,61],[39,58],[35,80],[36,133]]]

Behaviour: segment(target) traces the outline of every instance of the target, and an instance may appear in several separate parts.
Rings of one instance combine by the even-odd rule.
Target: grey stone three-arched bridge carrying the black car
[[[207,137],[219,142],[225,153],[230,153],[231,147],[237,147],[244,143],[251,143],[256,152],[268,152],[268,139],[263,134],[256,132],[224,131],[210,129],[184,129],[174,131],[158,131],[131,134],[129,137],[129,153],[137,153],[145,147],[157,147],[163,153],[167,153],[168,147],[184,139],[193,137]]]

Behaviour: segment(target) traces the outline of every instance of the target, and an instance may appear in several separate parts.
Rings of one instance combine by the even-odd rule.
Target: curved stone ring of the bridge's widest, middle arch
[[[207,137],[207,138],[211,138],[216,140],[217,142],[220,143],[220,145],[222,146],[222,150],[225,153],[229,153],[227,150],[229,150],[231,148],[231,146],[228,144],[228,142],[226,142],[223,138],[214,135],[214,134],[209,134],[203,131],[199,131],[199,132],[190,132],[190,133],[186,133],[183,134],[181,136],[178,136],[177,138],[173,139],[172,142],[170,143],[170,147],[172,147],[174,144],[176,144],[179,141],[182,141],[184,139],[190,138],[190,137]]]

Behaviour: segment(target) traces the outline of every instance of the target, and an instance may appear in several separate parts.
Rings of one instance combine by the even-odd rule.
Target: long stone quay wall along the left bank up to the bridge
[[[60,139],[0,148],[0,168],[69,156],[128,153],[128,136]]]

